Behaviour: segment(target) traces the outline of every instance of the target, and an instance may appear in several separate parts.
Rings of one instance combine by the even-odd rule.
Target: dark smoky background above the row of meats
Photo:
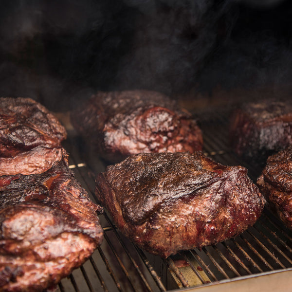
[[[124,89],[191,109],[290,98],[292,2],[1,1],[1,96],[66,111]]]

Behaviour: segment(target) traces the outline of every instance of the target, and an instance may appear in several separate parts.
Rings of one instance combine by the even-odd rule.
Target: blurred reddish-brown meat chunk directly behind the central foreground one
[[[154,91],[98,92],[72,112],[77,132],[107,160],[142,152],[202,149],[202,134],[190,113]]]

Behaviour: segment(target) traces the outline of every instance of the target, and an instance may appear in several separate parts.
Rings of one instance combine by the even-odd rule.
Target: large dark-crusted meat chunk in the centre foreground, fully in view
[[[265,204],[246,168],[201,152],[129,156],[97,175],[96,196],[127,237],[165,258],[237,236]]]

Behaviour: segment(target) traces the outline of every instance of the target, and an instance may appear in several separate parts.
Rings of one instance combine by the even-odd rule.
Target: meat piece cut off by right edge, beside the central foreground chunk
[[[267,159],[257,184],[271,210],[292,229],[292,146]]]

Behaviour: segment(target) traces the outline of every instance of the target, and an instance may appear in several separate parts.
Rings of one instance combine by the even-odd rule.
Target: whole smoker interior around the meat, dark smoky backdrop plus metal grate
[[[246,166],[256,180],[261,166],[232,152],[229,110],[221,109],[291,99],[292,1],[16,0],[1,1],[0,16],[1,96],[31,97],[64,111],[65,121],[65,111],[96,91],[154,90],[188,110],[212,108],[199,113],[204,152]],[[96,201],[94,177],[106,164],[70,126],[68,133],[63,145],[71,167]],[[229,292],[232,283],[255,279],[254,292],[272,275],[273,291],[273,283],[288,285],[292,278],[292,232],[268,210],[232,240],[167,260],[136,248],[106,211],[100,219],[101,247],[57,291],[219,292],[228,285],[222,291]]]

